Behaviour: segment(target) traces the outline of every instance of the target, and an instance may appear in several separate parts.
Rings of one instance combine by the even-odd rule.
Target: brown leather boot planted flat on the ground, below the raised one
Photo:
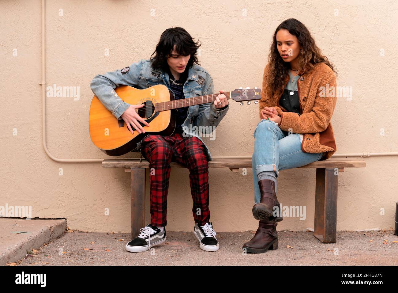
[[[258,229],[254,237],[243,244],[242,250],[251,253],[264,253],[267,250],[278,248],[278,233],[276,232],[277,222],[261,220],[258,223]]]

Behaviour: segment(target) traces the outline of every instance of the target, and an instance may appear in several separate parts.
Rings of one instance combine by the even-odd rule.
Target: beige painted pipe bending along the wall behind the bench
[[[43,147],[47,155],[57,162],[62,163],[102,163],[103,159],[59,159],[51,155],[47,149],[46,142],[46,75],[45,75],[45,0],[41,0],[41,100],[42,100],[42,129],[43,129]],[[373,156],[392,156],[398,155],[398,152],[389,153],[339,153],[334,154],[332,157],[373,157]],[[218,156],[213,157],[214,159],[248,159],[252,158],[251,155],[243,156]]]

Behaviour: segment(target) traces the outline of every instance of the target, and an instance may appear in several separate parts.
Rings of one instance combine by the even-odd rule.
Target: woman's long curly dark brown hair
[[[335,66],[329,62],[328,57],[322,55],[321,49],[315,44],[315,40],[306,26],[295,18],[289,18],[275,29],[273,41],[269,48],[268,70],[265,73],[269,89],[267,98],[271,98],[275,92],[282,94],[285,86],[285,78],[289,74],[290,69],[289,62],[283,61],[277,48],[276,34],[279,29],[287,29],[291,35],[297,37],[300,45],[300,52],[297,56],[298,73],[311,72],[314,70],[314,64],[325,63],[337,76],[337,72],[334,69]]]

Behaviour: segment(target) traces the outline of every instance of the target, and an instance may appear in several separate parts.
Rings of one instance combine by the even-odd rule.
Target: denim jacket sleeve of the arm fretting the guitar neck
[[[205,87],[205,92],[203,92],[203,96],[207,94],[214,94],[214,83],[213,79],[209,78],[209,84]],[[217,109],[214,106],[214,102],[201,104],[199,105],[199,114],[197,118],[195,118],[195,124],[197,126],[214,126],[217,127],[219,125],[221,119],[225,116],[226,112],[229,109],[229,103],[226,107]]]

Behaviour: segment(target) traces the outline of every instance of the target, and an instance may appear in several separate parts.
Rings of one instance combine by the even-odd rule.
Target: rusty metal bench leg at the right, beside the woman
[[[316,169],[314,236],[322,243],[336,243],[338,172]]]

